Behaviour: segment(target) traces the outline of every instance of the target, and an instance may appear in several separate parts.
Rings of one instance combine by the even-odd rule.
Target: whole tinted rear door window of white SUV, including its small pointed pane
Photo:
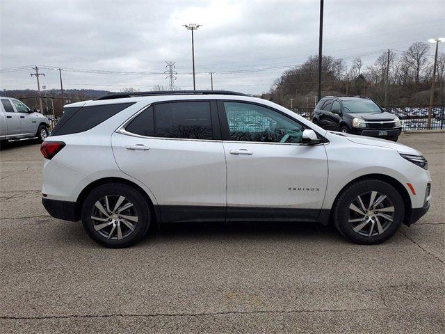
[[[126,130],[159,138],[212,139],[210,102],[155,104],[140,113]]]

